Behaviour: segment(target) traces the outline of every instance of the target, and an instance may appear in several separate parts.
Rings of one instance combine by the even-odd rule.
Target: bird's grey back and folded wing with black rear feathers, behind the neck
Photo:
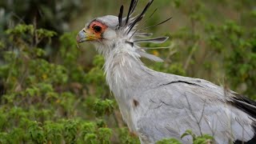
[[[142,139],[180,138],[186,130],[210,134],[218,143],[247,142],[254,137],[255,103],[206,80],[150,73],[154,78],[146,85],[149,89],[134,94],[137,104],[132,117]],[[190,137],[182,138],[189,141]]]

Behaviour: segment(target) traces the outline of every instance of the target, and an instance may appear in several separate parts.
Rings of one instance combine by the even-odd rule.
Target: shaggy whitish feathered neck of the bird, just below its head
[[[134,85],[147,70],[141,62],[140,55],[134,47],[127,43],[116,43],[106,48],[102,54],[105,57],[104,70],[106,82],[114,93],[121,93],[120,90]]]

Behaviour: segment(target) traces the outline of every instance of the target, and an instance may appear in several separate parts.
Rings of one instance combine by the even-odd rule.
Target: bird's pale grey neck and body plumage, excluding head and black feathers
[[[202,79],[150,70],[126,53],[107,62],[114,62],[105,67],[110,90],[123,119],[142,142],[180,139],[186,130],[213,135],[218,143],[254,137],[255,119],[230,105],[233,92]],[[190,143],[191,138],[182,142]]]

